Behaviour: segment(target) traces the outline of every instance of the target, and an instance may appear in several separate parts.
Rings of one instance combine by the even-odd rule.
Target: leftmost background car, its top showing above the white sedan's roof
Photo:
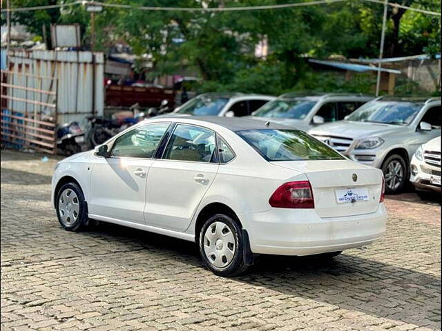
[[[175,108],[174,115],[242,117],[273,99],[262,94],[204,93]]]

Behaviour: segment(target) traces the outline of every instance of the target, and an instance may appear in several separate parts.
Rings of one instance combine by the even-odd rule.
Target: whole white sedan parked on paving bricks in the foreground
[[[226,117],[143,121],[57,163],[61,226],[89,219],[195,241],[215,274],[258,254],[333,257],[382,236],[383,174],[305,132]]]

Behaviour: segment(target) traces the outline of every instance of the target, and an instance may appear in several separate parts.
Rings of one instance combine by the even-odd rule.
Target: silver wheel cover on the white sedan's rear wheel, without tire
[[[215,221],[204,232],[204,253],[216,268],[223,269],[231,263],[236,254],[235,236],[229,225]]]

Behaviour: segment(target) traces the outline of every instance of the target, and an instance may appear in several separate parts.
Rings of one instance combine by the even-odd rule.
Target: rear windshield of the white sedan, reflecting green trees
[[[340,160],[344,157],[298,130],[244,130],[236,132],[267,161]]]

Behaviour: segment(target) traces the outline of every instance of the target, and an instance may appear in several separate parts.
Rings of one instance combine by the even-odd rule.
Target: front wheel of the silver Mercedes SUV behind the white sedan
[[[399,154],[392,154],[385,159],[381,169],[385,177],[385,194],[401,193],[409,177],[405,159]]]

